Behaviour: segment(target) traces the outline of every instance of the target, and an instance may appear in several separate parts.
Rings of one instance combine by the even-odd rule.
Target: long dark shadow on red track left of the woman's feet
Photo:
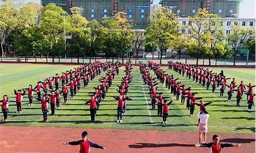
[[[180,143],[164,143],[164,144],[155,144],[155,143],[136,143],[128,145],[130,148],[156,148],[156,147],[172,147],[172,146],[182,146],[182,147],[191,147],[195,144],[180,144]]]

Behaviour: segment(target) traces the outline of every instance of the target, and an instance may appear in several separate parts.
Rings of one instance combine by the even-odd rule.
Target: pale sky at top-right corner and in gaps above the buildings
[[[34,1],[40,3],[40,0],[26,0],[26,2]],[[154,3],[159,3],[160,0],[154,0]],[[255,18],[255,0],[243,0],[240,3],[239,17]]]

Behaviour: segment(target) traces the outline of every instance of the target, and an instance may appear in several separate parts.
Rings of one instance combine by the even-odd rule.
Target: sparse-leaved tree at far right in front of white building
[[[242,27],[241,25],[232,25],[231,33],[227,35],[228,43],[233,50],[234,61],[233,65],[236,65],[236,55],[241,49],[246,40],[254,34],[254,30]]]

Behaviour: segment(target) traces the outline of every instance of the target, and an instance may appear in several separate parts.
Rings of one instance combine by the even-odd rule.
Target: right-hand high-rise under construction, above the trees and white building
[[[181,17],[194,16],[199,8],[206,8],[221,17],[238,17],[240,0],[161,0],[160,4],[170,8]]]

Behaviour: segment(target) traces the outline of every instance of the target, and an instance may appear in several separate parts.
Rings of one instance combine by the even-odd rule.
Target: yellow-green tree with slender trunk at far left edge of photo
[[[18,9],[13,0],[0,3],[0,31],[2,32],[1,48],[2,61],[6,56],[4,43],[10,31],[15,30],[18,23]]]

